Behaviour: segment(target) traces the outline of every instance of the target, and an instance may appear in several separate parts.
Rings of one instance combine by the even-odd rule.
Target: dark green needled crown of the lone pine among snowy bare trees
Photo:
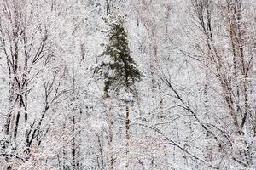
[[[109,42],[102,55],[109,56],[110,61],[102,62],[101,65],[105,79],[104,93],[107,96],[111,91],[113,94],[119,94],[120,90],[125,88],[126,92],[134,94],[134,85],[141,80],[141,73],[131,58],[123,21],[115,21],[109,25]]]

